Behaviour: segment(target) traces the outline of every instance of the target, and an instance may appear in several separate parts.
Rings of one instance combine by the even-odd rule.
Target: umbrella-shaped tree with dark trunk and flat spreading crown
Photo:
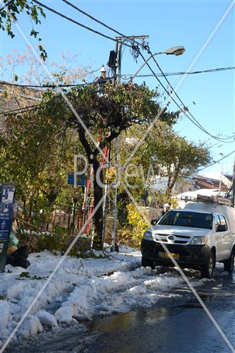
[[[145,85],[111,85],[107,83],[102,90],[97,85],[87,85],[73,88],[66,93],[66,97],[73,104],[80,119],[88,131],[97,140],[100,136],[100,148],[92,143],[88,131],[81,124],[60,94],[55,95],[51,90],[44,95],[44,114],[48,119],[57,119],[58,124],[64,124],[67,128],[78,131],[80,143],[83,145],[88,161],[93,165],[94,198],[97,208],[95,220],[95,240],[97,248],[102,248],[102,185],[98,182],[97,175],[101,165],[100,149],[109,146],[112,140],[122,131],[133,124],[150,124],[159,112],[159,104],[156,100],[158,94]],[[167,109],[161,115],[163,121],[174,121],[175,114],[169,114]],[[101,183],[104,176],[100,174]]]

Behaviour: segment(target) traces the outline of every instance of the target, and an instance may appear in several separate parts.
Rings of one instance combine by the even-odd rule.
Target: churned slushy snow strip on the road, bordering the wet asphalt
[[[193,285],[203,283],[197,281]],[[73,318],[90,320],[95,315],[126,312],[136,306],[148,307],[156,303],[164,289],[183,286],[184,280],[176,271],[170,275],[159,274],[150,268],[92,276],[79,282],[55,316],[59,323],[69,323]]]

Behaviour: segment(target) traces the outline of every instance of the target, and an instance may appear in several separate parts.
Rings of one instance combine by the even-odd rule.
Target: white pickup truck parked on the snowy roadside
[[[235,210],[231,206],[188,203],[151,224],[141,243],[143,266],[174,266],[167,246],[182,268],[200,270],[202,277],[212,277],[216,262],[224,263],[229,273],[234,270]]]

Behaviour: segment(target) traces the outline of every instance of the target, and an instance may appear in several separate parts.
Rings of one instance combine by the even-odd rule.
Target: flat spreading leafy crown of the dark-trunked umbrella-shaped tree
[[[101,141],[102,147],[133,124],[150,123],[160,109],[157,91],[150,90],[145,85],[133,85],[127,89],[126,85],[114,86],[107,83],[102,88],[102,94],[97,85],[78,86],[69,90],[66,97],[91,133],[96,134],[100,128],[103,129],[103,136],[109,133],[109,138]],[[44,114],[52,116],[53,112],[54,119],[61,119],[66,126],[77,128],[78,131],[83,129],[80,120],[68,109],[61,94],[55,95],[53,90],[47,90],[43,100]],[[172,124],[177,117],[177,114],[164,109],[159,119]]]

